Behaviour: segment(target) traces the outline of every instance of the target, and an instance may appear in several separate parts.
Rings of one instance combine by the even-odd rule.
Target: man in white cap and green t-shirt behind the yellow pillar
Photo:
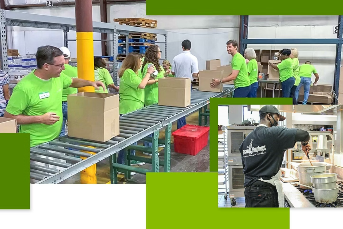
[[[64,56],[64,70],[62,71],[64,74],[69,76],[70,78],[78,78],[78,68],[70,66],[70,50],[67,47],[60,47],[63,56]],[[62,130],[60,133],[60,137],[66,135],[66,122],[68,120],[68,101],[67,96],[70,94],[78,93],[77,88],[66,88],[62,91]]]

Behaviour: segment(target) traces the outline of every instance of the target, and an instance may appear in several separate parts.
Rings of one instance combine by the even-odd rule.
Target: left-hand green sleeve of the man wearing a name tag
[[[26,92],[21,90],[19,87],[14,87],[10,101],[6,107],[6,111],[12,115],[23,114],[23,111],[28,106],[29,101],[30,98]]]

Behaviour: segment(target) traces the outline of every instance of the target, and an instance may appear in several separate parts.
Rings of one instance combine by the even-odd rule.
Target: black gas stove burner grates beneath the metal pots
[[[340,185],[339,192],[337,194],[336,202],[330,204],[322,204],[316,202],[315,195],[312,193],[310,189],[302,189],[300,185],[293,185],[301,194],[303,194],[308,201],[310,201],[315,207],[343,207],[343,181],[337,182]]]

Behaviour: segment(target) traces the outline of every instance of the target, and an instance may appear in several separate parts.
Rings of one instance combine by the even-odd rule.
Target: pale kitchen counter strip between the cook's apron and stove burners
[[[282,182],[282,188],[284,196],[291,207],[315,207],[290,182]]]

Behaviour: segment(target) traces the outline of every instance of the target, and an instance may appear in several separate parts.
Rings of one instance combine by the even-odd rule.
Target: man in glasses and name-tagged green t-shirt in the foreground
[[[62,90],[68,87],[105,88],[102,82],[70,78],[64,70],[62,51],[42,46],[36,53],[37,69],[25,76],[13,89],[6,107],[6,118],[16,119],[19,133],[30,134],[30,147],[56,139],[62,128]]]

